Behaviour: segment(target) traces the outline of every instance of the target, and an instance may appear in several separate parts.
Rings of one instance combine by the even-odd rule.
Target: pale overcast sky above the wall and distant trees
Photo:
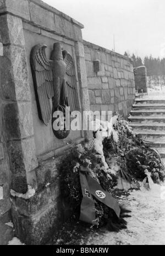
[[[124,54],[165,57],[164,0],[43,0],[83,23],[84,40]]]

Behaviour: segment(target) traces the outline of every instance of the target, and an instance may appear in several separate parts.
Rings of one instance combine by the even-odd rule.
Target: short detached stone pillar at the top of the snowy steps
[[[135,88],[139,93],[147,93],[147,71],[145,66],[134,68]]]

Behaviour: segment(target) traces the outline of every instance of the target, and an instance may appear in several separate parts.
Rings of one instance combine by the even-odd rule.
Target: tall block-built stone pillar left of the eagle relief
[[[34,184],[30,172],[38,166],[38,163],[35,154],[23,24],[20,18],[6,13],[1,14],[0,23],[0,38],[3,43],[1,57],[3,138],[12,172],[11,188],[19,193],[26,193],[27,183]]]

